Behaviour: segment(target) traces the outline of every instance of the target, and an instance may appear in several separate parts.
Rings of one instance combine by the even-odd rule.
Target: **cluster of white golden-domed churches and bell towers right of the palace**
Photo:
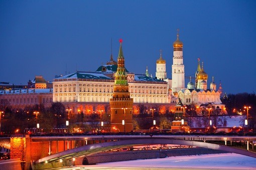
[[[200,112],[204,107],[213,107],[220,109],[220,112],[226,112],[225,105],[220,100],[222,93],[221,84],[217,90],[216,83],[212,77],[210,88],[207,86],[208,74],[204,71],[203,62],[200,65],[198,58],[198,66],[195,72],[195,83],[190,81],[185,87],[185,69],[183,64],[183,43],[179,39],[179,29],[177,39],[173,42],[173,64],[172,64],[172,79],[166,78],[166,61],[160,58],[156,62],[157,72],[156,77],[168,82],[169,87],[169,102],[176,102],[179,99],[184,105],[194,105],[197,112]]]

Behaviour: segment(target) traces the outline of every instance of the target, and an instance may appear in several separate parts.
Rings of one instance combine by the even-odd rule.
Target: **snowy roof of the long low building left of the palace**
[[[6,92],[6,93],[5,93]],[[52,88],[30,88],[30,89],[15,89],[15,90],[0,90],[0,94],[15,94],[15,93],[52,93]]]

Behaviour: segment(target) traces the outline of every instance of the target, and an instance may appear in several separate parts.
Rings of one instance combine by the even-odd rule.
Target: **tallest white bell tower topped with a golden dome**
[[[179,39],[173,42],[173,64],[172,64],[172,92],[178,92],[185,87],[185,70],[183,64],[183,43]]]

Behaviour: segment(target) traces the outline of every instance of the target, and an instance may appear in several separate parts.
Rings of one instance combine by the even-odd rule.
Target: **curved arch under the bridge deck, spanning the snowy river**
[[[95,143],[95,144],[88,144],[81,147],[76,147],[70,150],[62,151],[56,154],[52,154],[46,157],[43,157],[39,160],[36,160],[33,164],[37,169],[36,166],[42,167],[42,165],[46,164],[45,162],[51,162],[51,166],[55,167],[55,164],[60,167],[59,162],[69,162],[69,160],[73,157],[82,157],[87,156],[95,153],[99,153],[105,150],[119,148],[119,147],[128,147],[133,145],[144,145],[144,144],[181,144],[181,145],[191,145],[197,147],[204,147],[210,148],[215,150],[224,150],[228,152],[234,152],[238,154],[243,154],[251,157],[256,157],[256,153],[242,150],[226,145],[219,145],[213,143],[207,143],[203,141],[193,141],[193,140],[182,140],[182,139],[170,139],[170,138],[138,138],[138,139],[124,139],[124,140],[117,140],[111,142],[103,142],[103,143]],[[58,163],[56,163],[58,162]],[[49,163],[48,163],[49,164]],[[67,163],[65,163],[67,165]],[[71,164],[72,165],[72,164]],[[48,166],[49,167],[49,166]]]

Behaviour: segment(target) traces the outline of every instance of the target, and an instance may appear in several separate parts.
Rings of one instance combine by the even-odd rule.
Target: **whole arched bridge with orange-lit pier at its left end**
[[[236,142],[245,148],[237,148]],[[224,150],[256,157],[256,136],[216,135],[84,135],[84,136],[12,136],[11,158],[21,158],[23,169],[71,166],[76,158],[105,150],[145,144],[182,144]],[[212,142],[219,142],[218,144]],[[228,146],[229,145],[229,146]],[[250,148],[250,150],[249,150]]]

